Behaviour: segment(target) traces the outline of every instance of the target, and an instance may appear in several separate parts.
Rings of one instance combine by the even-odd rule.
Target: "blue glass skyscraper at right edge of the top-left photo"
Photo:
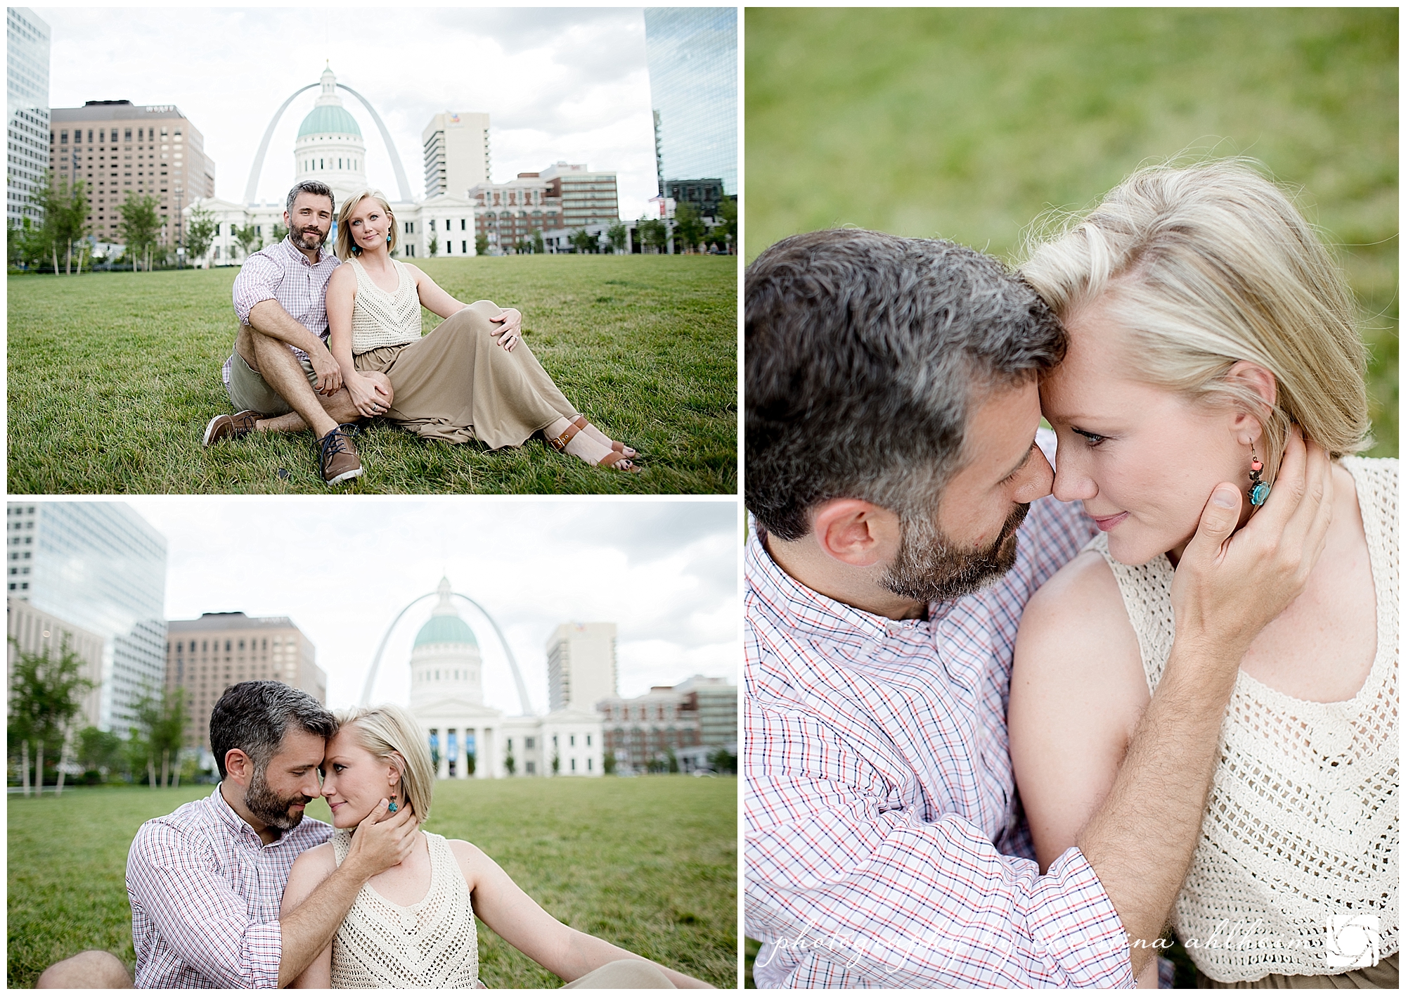
[[[645,7],[644,51],[659,196],[707,177],[737,194],[737,8]]]

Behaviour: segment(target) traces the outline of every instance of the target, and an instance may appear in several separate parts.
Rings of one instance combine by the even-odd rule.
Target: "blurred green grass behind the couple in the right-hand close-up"
[[[1249,155],[1302,187],[1362,309],[1398,452],[1395,8],[747,11],[747,245],[837,225],[1015,259],[1139,165]]]

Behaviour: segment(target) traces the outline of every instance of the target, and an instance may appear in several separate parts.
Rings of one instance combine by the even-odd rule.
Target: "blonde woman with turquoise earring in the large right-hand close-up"
[[[1240,664],[1173,926],[1204,986],[1395,988],[1398,473],[1351,456],[1369,423],[1350,291],[1240,162],[1135,173],[1022,273],[1070,335],[1040,384],[1054,495],[1099,529],[1017,641],[1011,758],[1040,868],[1104,800],[1157,687],[1208,495],[1239,481],[1244,525],[1296,428],[1336,457],[1333,521]],[[1324,957],[1365,944],[1337,916],[1379,917],[1378,966]]]

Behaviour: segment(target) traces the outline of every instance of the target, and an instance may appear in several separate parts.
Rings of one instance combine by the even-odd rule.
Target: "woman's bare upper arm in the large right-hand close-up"
[[[1026,604],[1011,670],[1011,764],[1040,874],[1108,796],[1149,702],[1118,581],[1083,553]],[[1157,962],[1137,981],[1156,988]]]

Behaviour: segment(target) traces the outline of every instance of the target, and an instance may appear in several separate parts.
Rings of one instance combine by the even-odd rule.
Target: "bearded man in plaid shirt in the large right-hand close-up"
[[[1036,445],[1063,329],[998,262],[877,232],[785,239],[745,295],[758,985],[1130,986],[1195,847],[1240,657],[1322,549],[1324,454],[1291,443],[1233,539],[1240,495],[1216,488],[1167,677],[1040,875],[1005,703],[1025,601],[1092,533],[1047,497]]]

